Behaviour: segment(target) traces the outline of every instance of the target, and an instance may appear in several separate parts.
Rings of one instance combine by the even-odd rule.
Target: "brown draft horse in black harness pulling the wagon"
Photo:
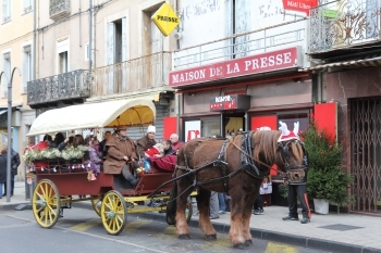
[[[199,227],[206,240],[217,239],[209,219],[210,191],[217,191],[231,195],[229,237],[234,248],[246,249],[253,244],[249,222],[263,177],[269,175],[273,164],[281,170],[304,167],[303,142],[278,142],[280,135],[281,131],[262,130],[237,135],[231,140],[198,138],[188,141],[179,150],[175,172],[177,180],[171,192],[173,201],[167,210],[167,222],[175,224],[179,238],[189,238],[185,217],[187,197],[199,186]],[[221,154],[225,166],[218,160],[219,156],[221,159]]]

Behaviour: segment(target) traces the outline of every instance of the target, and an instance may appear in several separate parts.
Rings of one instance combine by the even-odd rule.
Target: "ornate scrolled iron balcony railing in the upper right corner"
[[[321,52],[380,39],[379,0],[341,0],[310,10],[309,52]]]

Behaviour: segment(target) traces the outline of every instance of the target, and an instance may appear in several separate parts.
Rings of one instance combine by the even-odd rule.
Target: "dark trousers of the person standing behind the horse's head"
[[[288,208],[290,216],[297,217],[297,199],[302,205],[303,217],[310,218],[311,211],[308,205],[306,185],[290,185],[288,184]]]

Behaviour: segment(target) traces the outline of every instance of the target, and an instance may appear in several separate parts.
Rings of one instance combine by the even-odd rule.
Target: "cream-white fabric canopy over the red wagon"
[[[144,126],[153,124],[156,107],[147,99],[114,100],[47,111],[32,124],[27,136],[83,128]]]

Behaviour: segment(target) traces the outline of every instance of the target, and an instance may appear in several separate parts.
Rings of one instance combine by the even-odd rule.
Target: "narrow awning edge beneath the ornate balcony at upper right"
[[[376,58],[366,58],[366,59],[360,59],[360,60],[351,60],[351,61],[344,61],[344,62],[334,62],[334,63],[327,63],[327,64],[321,64],[317,66],[311,66],[311,67],[305,67],[300,68],[299,72],[309,72],[309,71],[318,71],[318,69],[323,69],[328,67],[360,67],[360,66],[381,66],[381,56],[376,56]]]

